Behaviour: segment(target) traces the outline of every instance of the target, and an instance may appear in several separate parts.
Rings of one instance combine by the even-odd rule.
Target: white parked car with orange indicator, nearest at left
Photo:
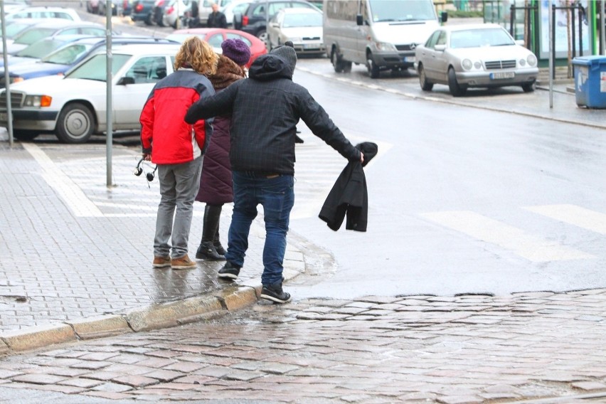
[[[113,49],[112,129],[139,130],[139,115],[154,85],[173,72],[180,45],[129,44]],[[14,136],[33,139],[54,133],[65,143],[85,143],[107,130],[107,56],[95,53],[65,76],[34,78],[11,86]],[[0,127],[6,127],[5,90],[0,92]]]

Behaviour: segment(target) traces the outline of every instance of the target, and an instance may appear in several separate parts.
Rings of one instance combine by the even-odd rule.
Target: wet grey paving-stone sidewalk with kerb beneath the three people
[[[262,271],[262,219],[237,287],[216,280],[221,262],[195,270],[151,267],[157,181],[134,176],[139,157],[112,148],[106,186],[105,143],[60,144],[52,137],[9,147],[0,139],[0,353],[62,341],[171,326],[256,301]],[[146,167],[151,171],[152,167]],[[195,203],[190,257],[202,232]],[[230,205],[221,218],[227,243]],[[285,276],[304,270],[289,245]]]

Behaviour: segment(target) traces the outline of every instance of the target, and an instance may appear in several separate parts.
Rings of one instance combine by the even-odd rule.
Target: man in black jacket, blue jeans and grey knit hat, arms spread
[[[235,280],[244,265],[248,233],[263,206],[265,247],[261,275],[262,299],[286,303],[282,263],[289,216],[294,204],[294,144],[302,119],[312,132],[348,160],[363,161],[309,92],[292,82],[297,53],[292,43],[262,55],[250,66],[249,78],[239,80],[210,98],[199,100],[186,114],[198,119],[231,114],[230,162],[234,207],[228,234],[227,262],[218,277]]]

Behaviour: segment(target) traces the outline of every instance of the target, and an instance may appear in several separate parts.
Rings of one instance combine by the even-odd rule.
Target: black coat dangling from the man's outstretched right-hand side
[[[356,149],[364,154],[364,162],[349,161],[324,201],[319,218],[336,231],[347,217],[346,230],[366,231],[368,223],[368,189],[363,166],[376,156],[378,146],[363,142]]]

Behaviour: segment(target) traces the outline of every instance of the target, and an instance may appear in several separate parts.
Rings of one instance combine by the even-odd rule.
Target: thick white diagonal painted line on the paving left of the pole
[[[40,147],[33,143],[23,143],[23,147],[42,167],[43,179],[55,189],[76,217],[94,218],[103,216],[95,203],[87,198],[82,189],[70,177],[65,175]]]

